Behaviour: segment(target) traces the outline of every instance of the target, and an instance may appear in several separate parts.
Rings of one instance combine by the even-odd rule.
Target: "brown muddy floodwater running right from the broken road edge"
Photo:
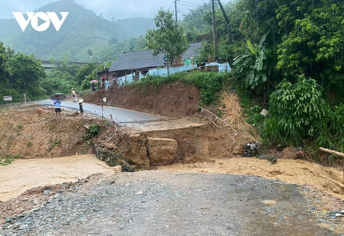
[[[344,190],[333,182],[321,177],[327,176],[343,182],[343,172],[336,168],[324,167],[302,160],[281,160],[271,164],[255,157],[215,160],[215,163],[174,164],[159,166],[159,170],[196,171],[209,173],[229,173],[236,175],[257,175],[268,179],[279,179],[289,184],[310,184],[335,197],[344,199]]]

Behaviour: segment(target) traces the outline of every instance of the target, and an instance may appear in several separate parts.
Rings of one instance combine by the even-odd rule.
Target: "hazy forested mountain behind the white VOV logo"
[[[71,60],[90,60],[90,54],[100,54],[110,45],[134,34],[139,36],[145,32],[144,26],[152,27],[149,25],[152,20],[143,17],[117,21],[104,19],[101,14],[97,15],[92,10],[85,9],[74,0],[52,2],[32,11],[56,12],[60,19],[59,12],[69,12],[58,32],[53,24],[45,31],[39,32],[35,31],[30,23],[23,32],[14,18],[0,19],[0,42],[15,51],[27,55],[33,53],[39,58],[62,58],[63,55],[69,54]],[[25,19],[26,17],[24,15]],[[115,56],[111,55],[111,58]]]

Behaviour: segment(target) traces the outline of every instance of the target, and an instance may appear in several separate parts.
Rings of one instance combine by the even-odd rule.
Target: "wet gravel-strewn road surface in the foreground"
[[[336,235],[316,225],[298,186],[256,176],[141,171],[86,181],[8,218],[1,235]]]

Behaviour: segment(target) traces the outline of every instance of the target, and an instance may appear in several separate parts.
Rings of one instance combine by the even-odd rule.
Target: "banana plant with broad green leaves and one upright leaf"
[[[259,44],[253,45],[247,40],[247,48],[250,50],[250,53],[235,58],[233,63],[233,65],[238,64],[236,69],[237,72],[245,74],[243,86],[245,88],[251,88],[252,90],[256,89],[258,90],[257,92],[264,89],[264,84],[269,79],[273,68],[267,58],[273,50],[267,50],[262,46],[268,33],[269,32],[265,33],[261,37]]]

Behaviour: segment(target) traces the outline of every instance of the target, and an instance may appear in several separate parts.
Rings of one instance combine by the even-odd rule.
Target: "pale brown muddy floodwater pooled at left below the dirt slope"
[[[94,154],[46,159],[17,159],[0,166],[0,200],[15,198],[38,186],[76,181],[96,173],[114,173]]]

